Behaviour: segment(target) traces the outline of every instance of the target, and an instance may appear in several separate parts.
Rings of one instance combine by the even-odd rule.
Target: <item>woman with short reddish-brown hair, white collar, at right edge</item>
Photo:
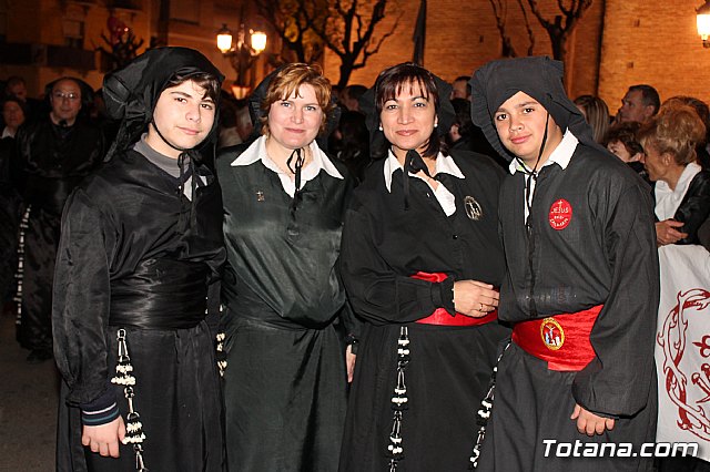
[[[710,215],[710,172],[697,162],[696,146],[706,126],[682,103],[661,106],[638,132],[643,166],[655,182],[656,243],[700,244],[698,229]]]

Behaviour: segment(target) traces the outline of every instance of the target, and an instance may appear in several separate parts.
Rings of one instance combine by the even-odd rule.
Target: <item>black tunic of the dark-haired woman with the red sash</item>
[[[454,280],[499,286],[503,249],[497,236],[500,167],[490,158],[453,155],[465,179],[439,173],[456,198],[446,216],[432,189],[409,178],[404,209],[403,172],[392,193],[384,161],[373,165],[355,191],[343,236],[343,278],[356,314],[366,320],[358,348],[343,441],[341,471],[389,470],[390,399],[396,384],[397,338],[406,326],[408,409],[403,413],[404,460],[397,471],[464,471],[474,445],[475,414],[485,396],[497,351],[508,330],[497,322],[452,327],[414,322],[436,308],[453,310]],[[466,212],[469,197],[481,217]],[[445,273],[444,283],[410,278]],[[459,315],[460,316],[460,315]]]

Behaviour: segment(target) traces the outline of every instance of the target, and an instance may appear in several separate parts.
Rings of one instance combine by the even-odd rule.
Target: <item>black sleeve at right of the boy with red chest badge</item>
[[[576,376],[572,396],[589,411],[629,417],[646,407],[655,383],[650,340],[656,332],[659,273],[652,202],[643,187],[629,186],[597,207],[611,278],[590,335],[597,356]]]

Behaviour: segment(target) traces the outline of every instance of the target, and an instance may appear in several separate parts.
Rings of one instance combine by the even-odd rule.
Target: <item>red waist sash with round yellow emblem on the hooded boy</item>
[[[579,371],[596,356],[589,334],[602,307],[517,322],[513,327],[513,342],[547,361],[549,370]]]

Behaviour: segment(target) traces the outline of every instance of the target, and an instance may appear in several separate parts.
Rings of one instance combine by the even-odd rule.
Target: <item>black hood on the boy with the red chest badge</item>
[[[579,142],[600,148],[591,127],[562,85],[564,65],[548,57],[503,59],[488,62],[470,80],[473,122],[490,145],[507,161],[514,155],[505,148],[494,124],[494,114],[509,98],[524,92],[537,100],[565,132],[570,130]]]

